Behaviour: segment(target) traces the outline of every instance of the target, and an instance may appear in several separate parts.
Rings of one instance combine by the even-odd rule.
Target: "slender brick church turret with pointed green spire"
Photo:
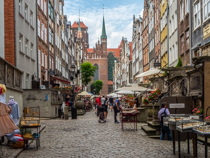
[[[103,16],[102,34],[101,34],[101,46],[102,46],[101,57],[107,58],[107,36],[106,36],[104,16]]]

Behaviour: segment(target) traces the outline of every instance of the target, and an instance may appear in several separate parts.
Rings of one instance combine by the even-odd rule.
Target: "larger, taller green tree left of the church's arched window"
[[[81,65],[82,83],[85,85],[85,91],[86,91],[86,86],[91,81],[91,77],[94,76],[96,69],[97,68],[93,66],[90,62],[82,63]]]

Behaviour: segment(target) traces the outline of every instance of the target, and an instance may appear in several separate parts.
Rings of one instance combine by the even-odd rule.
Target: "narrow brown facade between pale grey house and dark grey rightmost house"
[[[189,65],[190,58],[190,30],[189,30],[189,1],[178,1],[178,32],[179,32],[179,56],[181,56],[182,64]]]

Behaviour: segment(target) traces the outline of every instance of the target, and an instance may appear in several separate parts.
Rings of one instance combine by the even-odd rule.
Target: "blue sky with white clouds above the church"
[[[106,24],[108,48],[117,48],[122,37],[131,41],[133,15],[142,14],[144,0],[64,0],[64,14],[73,24],[80,20],[88,27],[90,48],[101,36],[102,20]]]

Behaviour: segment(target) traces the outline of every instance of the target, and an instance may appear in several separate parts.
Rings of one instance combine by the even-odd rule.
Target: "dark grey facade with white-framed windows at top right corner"
[[[210,16],[208,12],[210,8],[207,7],[209,2],[204,3],[204,1],[196,1],[193,3],[191,1],[190,8],[190,23],[191,23],[191,57],[198,56],[209,56],[210,55]],[[204,10],[204,7],[206,10]],[[196,18],[200,17],[200,18]]]

